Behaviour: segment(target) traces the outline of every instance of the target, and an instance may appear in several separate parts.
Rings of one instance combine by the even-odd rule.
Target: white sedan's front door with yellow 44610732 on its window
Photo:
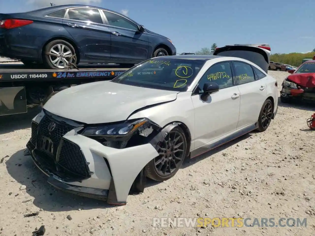
[[[201,99],[203,85],[215,82],[220,90]],[[236,130],[240,108],[240,93],[233,85],[231,64],[220,62],[212,65],[201,77],[197,92],[192,95],[195,109],[195,148]]]

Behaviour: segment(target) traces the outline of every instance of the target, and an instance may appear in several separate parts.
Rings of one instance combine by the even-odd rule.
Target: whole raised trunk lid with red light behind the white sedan
[[[215,56],[239,57],[251,61],[268,73],[270,62],[269,44],[234,44],[216,48]]]

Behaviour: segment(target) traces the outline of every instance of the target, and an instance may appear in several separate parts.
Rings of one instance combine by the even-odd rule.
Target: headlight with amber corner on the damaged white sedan
[[[127,136],[145,126],[149,121],[147,118],[141,118],[117,124],[90,126],[83,129],[81,134],[85,136]]]

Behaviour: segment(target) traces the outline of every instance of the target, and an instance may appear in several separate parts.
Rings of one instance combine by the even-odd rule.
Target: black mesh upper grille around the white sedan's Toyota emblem
[[[48,126],[52,122],[54,122],[56,126],[51,132],[49,132]],[[58,149],[61,138],[67,132],[71,131],[74,128],[75,128],[74,126],[71,126],[71,125],[66,124],[66,123],[62,123],[60,121],[56,121],[52,117],[45,115],[39,123],[38,134],[37,134],[37,143],[41,142],[41,138],[43,136],[50,138],[51,141],[53,142],[53,145],[54,145],[53,156],[55,157],[57,154],[57,149]]]

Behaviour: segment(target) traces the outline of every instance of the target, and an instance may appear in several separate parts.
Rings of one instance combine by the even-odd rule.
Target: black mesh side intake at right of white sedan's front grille
[[[62,139],[60,148],[56,158],[57,164],[75,175],[88,177],[89,170],[80,147],[75,143]]]

